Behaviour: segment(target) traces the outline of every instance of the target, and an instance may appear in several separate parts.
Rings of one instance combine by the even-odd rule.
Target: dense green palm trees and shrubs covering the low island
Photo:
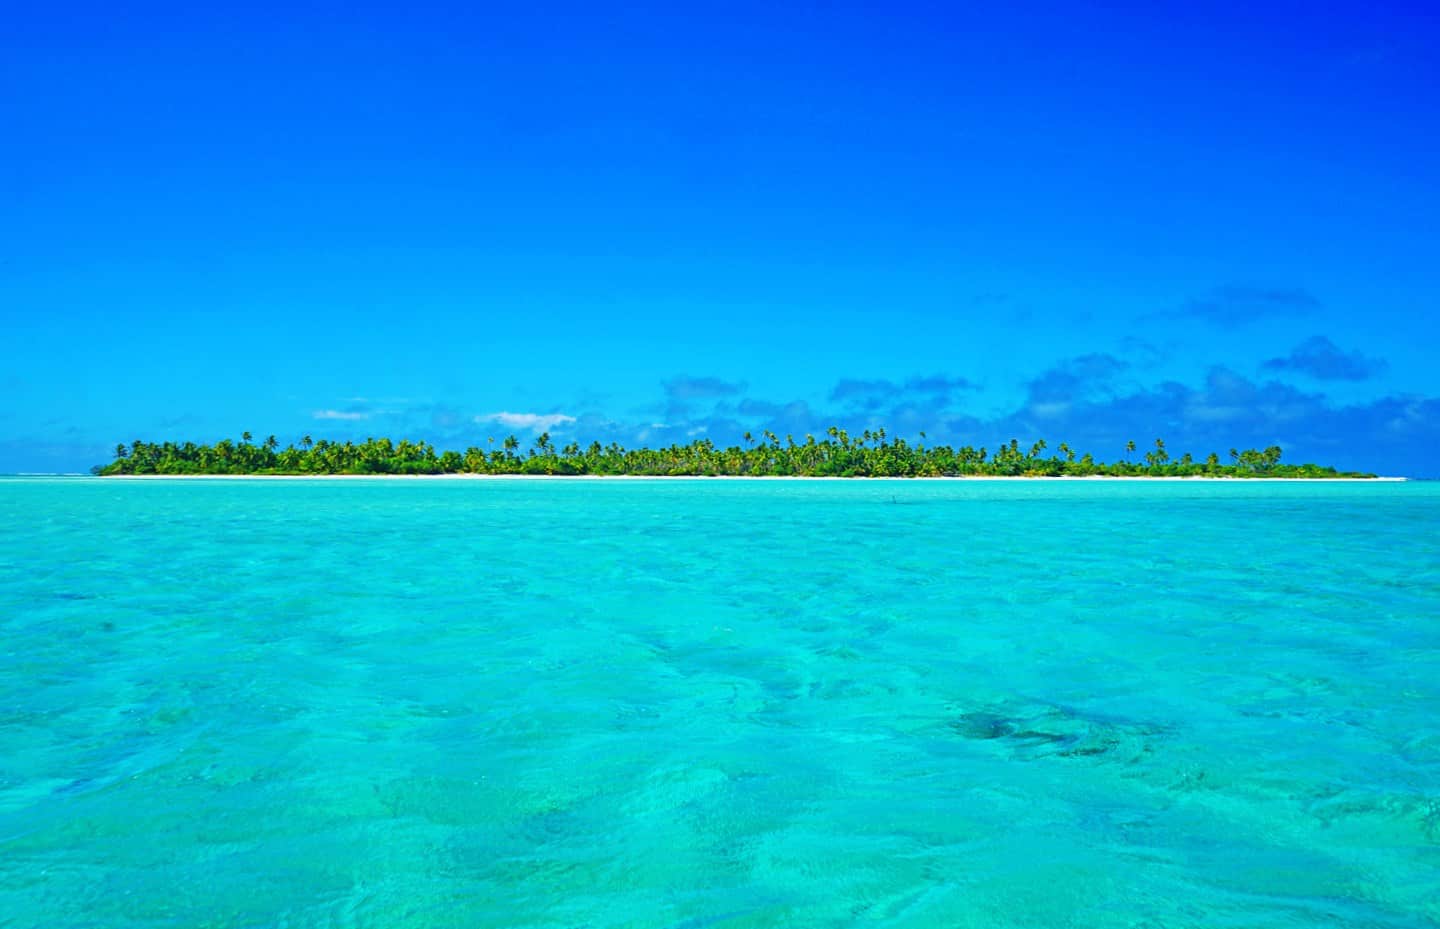
[[[249,432],[239,442],[215,445],[194,442],[144,442],[115,446],[115,459],[96,465],[95,474],[534,474],[534,475],[693,475],[693,477],[1236,477],[1236,478],[1369,478],[1372,474],[1336,471],[1313,464],[1282,464],[1280,448],[1230,449],[1228,461],[1211,454],[1204,459],[1184,454],[1172,458],[1164,439],[1136,457],[1135,442],[1125,444],[1125,457],[1103,462],[1077,454],[1064,442],[1053,451],[1040,439],[1022,448],[1018,439],[991,451],[962,445],[926,445],[887,438],[884,429],[865,429],[852,436],[831,426],[827,438],[814,435],[796,442],[773,432],[753,436],[743,445],[721,448],[710,439],[665,448],[624,448],[593,442],[557,446],[549,432],[536,436],[521,451],[514,435],[498,444],[464,452],[436,452],[428,442],[387,438],[364,442],[312,441],[281,448],[275,436],[253,442]]]

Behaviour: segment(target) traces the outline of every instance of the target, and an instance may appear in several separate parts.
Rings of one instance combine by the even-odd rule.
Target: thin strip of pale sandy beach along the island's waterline
[[[101,481],[1207,481],[1228,484],[1403,484],[1407,477],[1166,477],[1115,474],[1002,475],[958,474],[953,477],[805,477],[792,474],[107,474],[30,475],[86,477]]]

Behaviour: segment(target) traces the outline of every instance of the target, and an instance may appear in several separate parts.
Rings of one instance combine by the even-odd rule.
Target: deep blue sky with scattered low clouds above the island
[[[956,6],[16,10],[0,471],[837,423],[1440,474],[1434,13]]]

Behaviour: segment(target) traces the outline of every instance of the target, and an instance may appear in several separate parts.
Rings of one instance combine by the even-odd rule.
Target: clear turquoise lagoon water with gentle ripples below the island
[[[1430,926],[1440,485],[0,481],[3,926]]]

